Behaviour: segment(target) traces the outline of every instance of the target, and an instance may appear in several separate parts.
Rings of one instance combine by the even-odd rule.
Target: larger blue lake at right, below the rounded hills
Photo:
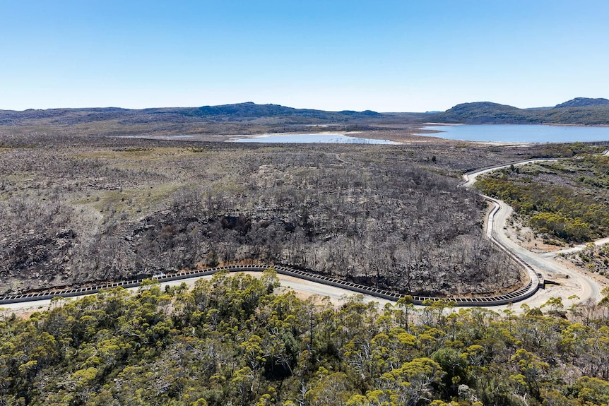
[[[425,130],[444,131],[420,136],[463,141],[497,141],[504,143],[571,143],[609,141],[609,127],[543,126],[536,124],[460,124],[427,126]]]

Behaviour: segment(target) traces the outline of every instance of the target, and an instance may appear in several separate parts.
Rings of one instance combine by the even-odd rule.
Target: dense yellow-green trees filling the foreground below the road
[[[0,316],[0,405],[603,405],[609,301],[497,314],[218,273]],[[545,314],[543,313],[545,312]],[[450,402],[450,403],[449,403]]]

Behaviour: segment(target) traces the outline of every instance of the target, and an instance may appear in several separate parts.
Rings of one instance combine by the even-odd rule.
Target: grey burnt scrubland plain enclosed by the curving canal
[[[40,134],[2,145],[2,293],[246,262],[410,294],[519,283],[483,237],[485,203],[457,185],[532,150]]]

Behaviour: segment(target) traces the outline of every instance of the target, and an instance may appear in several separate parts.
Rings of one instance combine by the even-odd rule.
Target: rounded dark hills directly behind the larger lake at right
[[[491,102],[463,103],[434,114],[434,122],[459,124],[609,124],[609,100],[577,97],[555,107],[519,109]]]

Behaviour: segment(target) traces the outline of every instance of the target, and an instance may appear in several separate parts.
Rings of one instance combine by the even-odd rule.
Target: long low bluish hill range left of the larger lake
[[[196,121],[246,121],[268,118],[307,118],[321,121],[367,119],[382,114],[372,111],[326,112],[314,109],[293,109],[280,105],[256,105],[252,102],[235,105],[175,107],[156,109],[119,109],[116,107],[90,109],[28,109],[23,112],[0,110],[0,124],[23,124],[47,121],[50,124],[86,124],[94,121],[117,121],[119,124],[177,123]],[[307,121],[308,122],[308,121]]]

